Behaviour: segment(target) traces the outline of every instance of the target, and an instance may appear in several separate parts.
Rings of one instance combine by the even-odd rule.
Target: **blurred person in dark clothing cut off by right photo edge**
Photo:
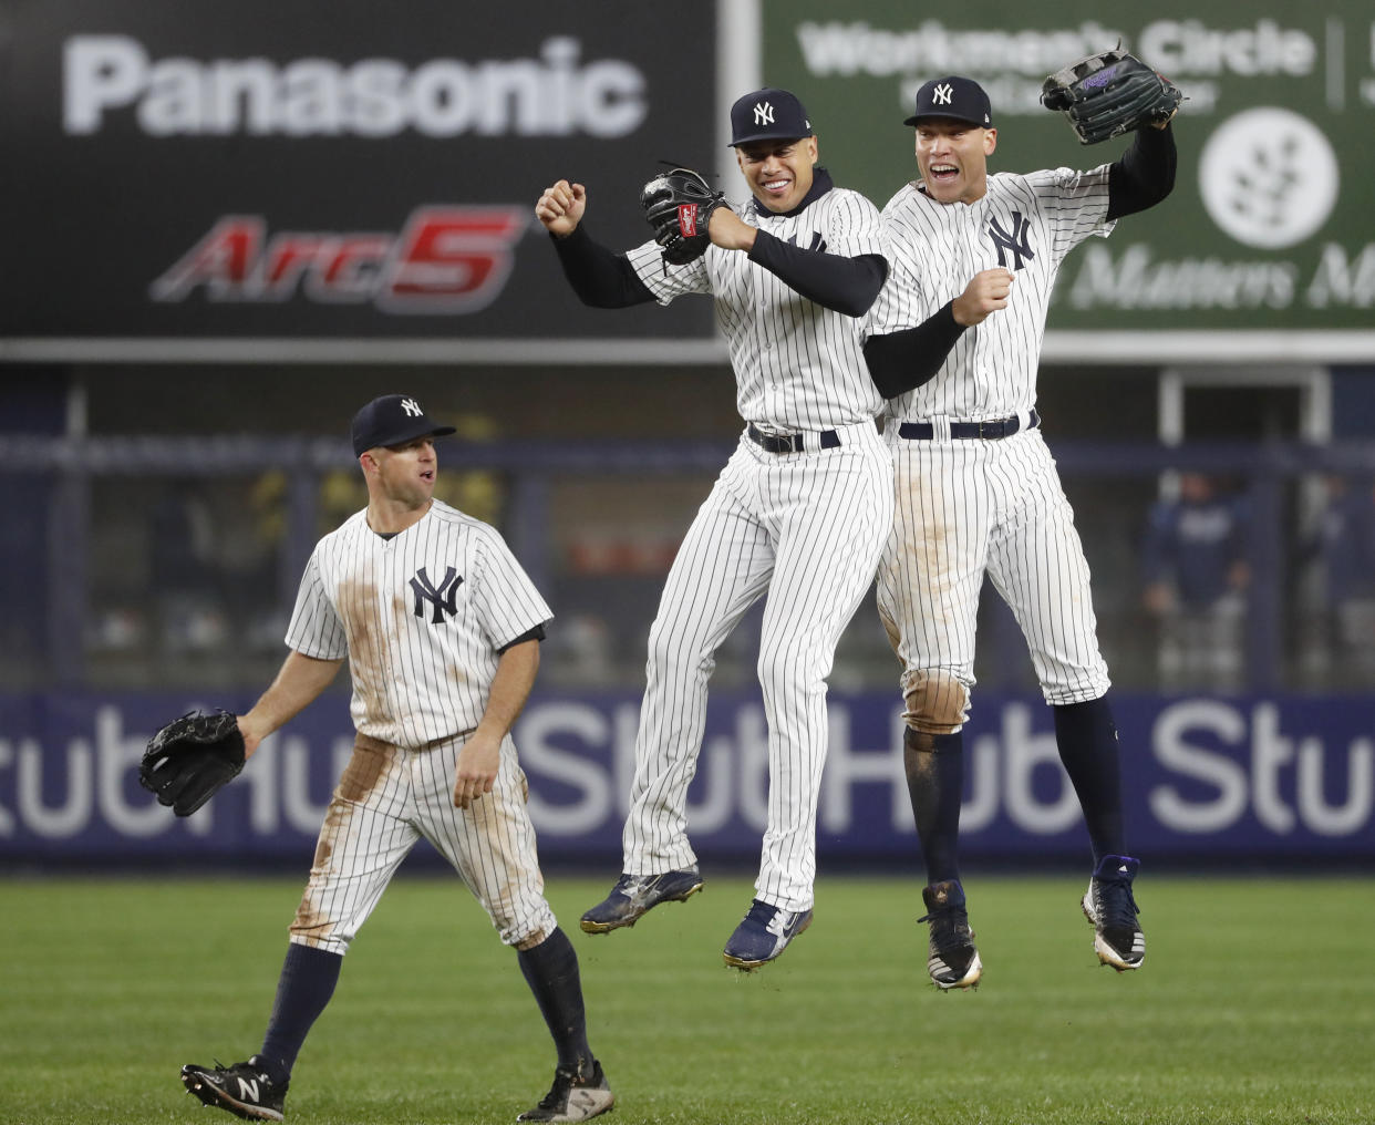
[[[1327,479],[1312,553],[1323,572],[1331,659],[1368,674],[1375,670],[1375,481]]]

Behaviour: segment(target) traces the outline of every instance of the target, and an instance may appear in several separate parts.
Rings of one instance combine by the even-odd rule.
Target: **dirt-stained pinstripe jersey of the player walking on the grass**
[[[499,649],[551,618],[494,528],[432,501],[389,539],[366,510],[320,539],[286,644],[348,656],[359,733],[418,748],[474,729]]]

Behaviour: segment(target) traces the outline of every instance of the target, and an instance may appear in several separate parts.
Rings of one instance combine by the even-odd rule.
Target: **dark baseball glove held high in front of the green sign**
[[[1121,48],[1070,63],[1041,85],[1041,105],[1063,111],[1082,144],[1163,125],[1182,100],[1174,83]]]

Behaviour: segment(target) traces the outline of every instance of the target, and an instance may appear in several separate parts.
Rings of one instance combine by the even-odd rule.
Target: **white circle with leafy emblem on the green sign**
[[[1209,216],[1238,242],[1275,250],[1327,221],[1341,173],[1332,146],[1292,110],[1262,106],[1217,127],[1199,161]]]

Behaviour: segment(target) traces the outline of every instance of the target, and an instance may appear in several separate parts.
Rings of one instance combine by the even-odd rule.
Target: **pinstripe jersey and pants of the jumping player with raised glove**
[[[898,506],[879,609],[903,664],[908,721],[932,722],[928,733],[967,718],[984,571],[1026,634],[1048,703],[1108,689],[1089,567],[1034,411],[1056,272],[1074,246],[1111,231],[1107,210],[1107,165],[990,175],[974,204],[939,204],[908,184],[883,210],[891,270],[870,312],[873,334],[920,325],[982,270],[1016,274],[1006,308],[965,330],[935,377],[886,414]],[[972,422],[986,424],[983,436]],[[932,718],[918,696],[945,678],[964,690]]]

